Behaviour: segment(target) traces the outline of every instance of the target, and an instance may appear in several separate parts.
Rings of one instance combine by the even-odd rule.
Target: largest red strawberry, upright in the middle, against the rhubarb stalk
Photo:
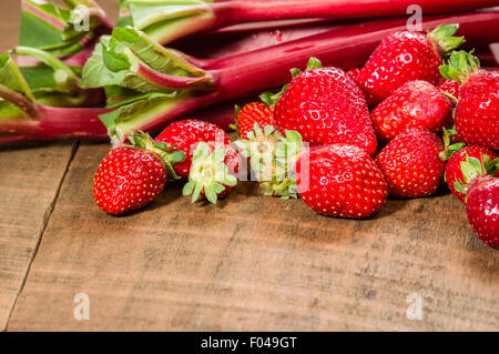
[[[366,100],[337,68],[309,69],[295,77],[275,105],[274,120],[278,130],[297,131],[313,145],[349,143],[369,154],[376,151]]]

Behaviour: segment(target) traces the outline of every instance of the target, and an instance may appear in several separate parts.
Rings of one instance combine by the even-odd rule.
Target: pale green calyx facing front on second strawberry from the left
[[[183,195],[192,195],[191,202],[196,202],[202,194],[213,204],[226,186],[237,184],[237,178],[230,173],[225,164],[226,149],[211,149],[206,142],[200,142],[194,151]]]

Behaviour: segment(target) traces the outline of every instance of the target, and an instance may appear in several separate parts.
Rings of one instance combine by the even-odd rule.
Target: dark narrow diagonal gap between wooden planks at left
[[[43,222],[42,222],[42,226],[41,226],[41,230],[40,230],[40,236],[38,237],[37,243],[34,244],[34,249],[33,249],[33,252],[31,253],[30,261],[28,263],[28,267],[27,267],[27,270],[24,272],[24,276],[22,277],[21,285],[19,286],[19,291],[16,294],[16,299],[14,299],[14,301],[12,303],[12,307],[10,309],[9,316],[7,317],[6,327],[2,330],[2,332],[8,332],[9,331],[10,317],[12,316],[12,313],[13,313],[13,310],[14,310],[17,303],[18,303],[19,296],[21,295],[22,291],[24,290],[24,285],[26,285],[26,282],[28,280],[28,275],[30,273],[31,265],[33,264],[34,259],[37,257],[38,249],[40,247],[40,243],[41,243],[41,240],[42,240],[43,234],[45,232],[47,225],[49,224],[50,216],[52,216],[52,212],[53,212],[53,210],[55,208],[55,204],[58,202],[59,194],[61,193],[62,184],[64,183],[65,176],[68,175],[68,171],[69,171],[69,169],[71,166],[71,163],[74,160],[74,156],[75,156],[79,148],[80,148],[80,141],[75,141],[73,143],[73,145],[71,146],[70,158],[69,158],[68,163],[65,165],[64,172],[62,173],[61,180],[59,181],[59,185],[58,185],[58,188],[55,190],[53,199],[50,202],[49,206],[47,208],[45,213],[43,214]]]

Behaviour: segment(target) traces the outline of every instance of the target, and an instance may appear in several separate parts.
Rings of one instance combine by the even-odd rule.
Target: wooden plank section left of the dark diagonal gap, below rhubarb
[[[22,289],[73,145],[0,146],[0,330]]]

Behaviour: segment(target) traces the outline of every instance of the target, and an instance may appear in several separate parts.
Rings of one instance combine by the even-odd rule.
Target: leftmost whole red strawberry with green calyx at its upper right
[[[93,180],[95,202],[114,215],[152,202],[167,176],[177,179],[173,164],[185,159],[183,152],[173,152],[165,143],[154,143],[147,134],[131,134],[129,140],[133,145],[111,150]]]

